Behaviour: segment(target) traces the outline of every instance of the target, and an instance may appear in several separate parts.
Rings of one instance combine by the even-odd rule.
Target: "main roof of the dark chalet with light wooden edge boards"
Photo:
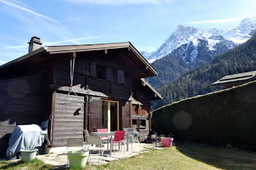
[[[149,69],[152,73],[152,76],[157,76],[157,71],[151,66],[143,55],[141,55],[138,50],[132,45],[130,42],[119,42],[119,43],[106,43],[106,44],[94,44],[94,45],[59,45],[59,46],[47,46],[41,47],[37,50],[34,50],[31,53],[23,55],[20,58],[17,58],[9,63],[5,63],[0,66],[0,69],[5,68],[7,66],[12,66],[14,63],[19,63],[27,58],[32,58],[39,53],[49,53],[49,54],[57,54],[57,53],[73,53],[73,52],[85,52],[85,51],[94,51],[94,50],[110,50],[110,49],[121,49],[121,48],[129,48],[139,59],[142,61],[146,68]]]

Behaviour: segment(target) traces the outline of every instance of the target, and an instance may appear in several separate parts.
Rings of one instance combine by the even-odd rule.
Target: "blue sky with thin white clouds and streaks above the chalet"
[[[225,29],[256,15],[255,7],[255,0],[0,0],[0,65],[28,53],[31,36],[43,45],[130,41],[151,51],[179,24]]]

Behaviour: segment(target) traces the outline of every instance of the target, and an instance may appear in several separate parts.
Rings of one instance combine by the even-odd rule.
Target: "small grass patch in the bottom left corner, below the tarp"
[[[26,163],[24,163],[23,161],[0,161],[0,169],[48,170],[48,169],[54,169],[54,168],[51,165],[45,164],[42,161],[35,159],[34,161],[26,162]]]

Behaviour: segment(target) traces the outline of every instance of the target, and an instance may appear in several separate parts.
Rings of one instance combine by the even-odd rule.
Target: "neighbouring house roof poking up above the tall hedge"
[[[227,75],[217,80],[216,82],[212,83],[212,85],[214,86],[226,86],[226,85],[236,85],[236,84],[240,85],[242,83],[251,82],[254,80],[256,80],[256,71]]]

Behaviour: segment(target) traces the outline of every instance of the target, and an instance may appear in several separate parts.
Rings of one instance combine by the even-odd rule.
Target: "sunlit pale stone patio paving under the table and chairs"
[[[134,143],[131,145],[129,144],[129,151],[119,151],[118,147],[116,147],[116,152],[112,152],[111,157],[109,157],[109,151],[107,150],[107,146],[105,146],[105,161],[99,161],[101,157],[99,154],[91,154],[87,163],[91,165],[99,165],[105,164],[111,161],[116,161],[122,158],[129,158],[134,155],[139,155],[140,153],[147,152],[146,150],[149,148],[154,147],[155,144],[145,144],[145,143]],[[155,147],[157,148],[157,147]],[[161,147],[158,147],[161,148]],[[127,148],[125,147],[125,150]],[[42,160],[44,163],[52,164],[56,167],[67,167],[67,152],[60,152],[60,153],[52,153],[48,155],[37,155],[39,160]]]

